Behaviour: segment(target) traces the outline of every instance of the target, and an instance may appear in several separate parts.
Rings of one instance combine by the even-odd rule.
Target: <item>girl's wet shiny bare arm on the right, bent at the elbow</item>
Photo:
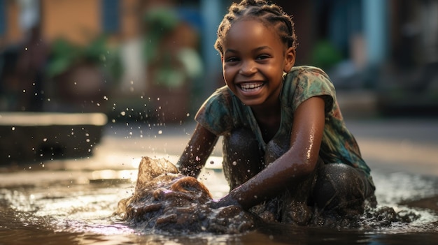
[[[325,124],[324,101],[312,97],[297,107],[290,149],[253,178],[235,188],[213,207],[240,205],[249,209],[308,177],[316,168]]]

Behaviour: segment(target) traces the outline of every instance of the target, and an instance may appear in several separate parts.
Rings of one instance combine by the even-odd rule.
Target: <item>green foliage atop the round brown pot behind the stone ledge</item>
[[[89,45],[74,45],[59,38],[51,45],[46,75],[56,77],[80,64],[92,64],[118,81],[122,75],[122,61],[118,49],[107,45],[106,36],[99,36]]]

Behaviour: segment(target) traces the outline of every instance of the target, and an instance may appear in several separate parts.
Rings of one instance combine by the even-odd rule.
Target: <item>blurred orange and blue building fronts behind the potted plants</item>
[[[147,111],[148,105],[160,96],[146,92],[150,83],[145,80],[150,74],[144,68],[148,64],[143,64],[146,61],[139,54],[143,43],[150,38],[144,35],[143,15],[154,6],[170,6],[178,9],[178,16],[183,16],[199,34],[197,50],[204,75],[190,82],[190,92],[196,93],[190,96],[190,103],[197,107],[213,89],[223,84],[220,59],[213,43],[218,23],[231,2],[0,0],[0,48],[13,50],[34,24],[38,24],[42,38],[49,44],[57,38],[65,38],[87,45],[97,36],[109,34],[110,45],[121,50],[124,73],[111,86],[106,84],[104,89],[91,86],[90,89],[101,89],[108,95],[100,103],[120,97],[117,103],[106,107],[115,114],[134,107],[137,111]],[[411,103],[438,104],[438,0],[275,2],[294,17],[299,40],[297,64],[324,68],[338,89],[370,89],[385,94],[389,99],[382,101],[383,104],[406,102],[411,96],[415,96],[409,100]],[[8,63],[10,61],[4,58],[0,60],[1,73],[10,69]],[[4,87],[5,78],[1,79],[0,86]],[[45,87],[50,90],[47,84]],[[3,89],[3,101],[4,97]],[[83,107],[95,107],[95,101],[86,100],[89,102]],[[191,106],[185,111],[192,110]]]

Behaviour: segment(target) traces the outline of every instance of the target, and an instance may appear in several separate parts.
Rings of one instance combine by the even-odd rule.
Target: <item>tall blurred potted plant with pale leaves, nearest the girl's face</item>
[[[150,9],[143,20],[150,111],[162,122],[183,121],[190,112],[192,83],[202,75],[197,32],[171,8]]]

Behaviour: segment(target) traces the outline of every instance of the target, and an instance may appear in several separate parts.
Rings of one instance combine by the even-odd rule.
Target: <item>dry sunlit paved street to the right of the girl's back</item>
[[[438,177],[438,120],[347,121],[373,169]]]

